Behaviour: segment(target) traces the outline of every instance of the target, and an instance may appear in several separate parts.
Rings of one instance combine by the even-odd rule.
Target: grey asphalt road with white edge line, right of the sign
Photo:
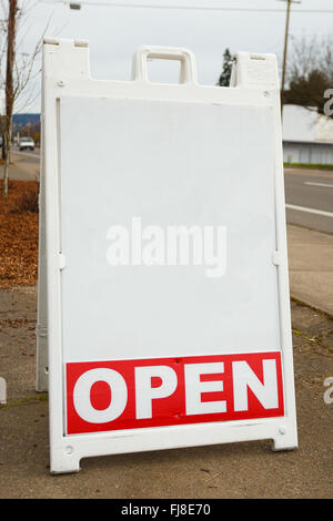
[[[333,171],[285,168],[286,221],[333,234]]]

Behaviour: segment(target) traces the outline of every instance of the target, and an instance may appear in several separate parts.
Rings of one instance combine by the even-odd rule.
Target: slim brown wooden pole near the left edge
[[[13,111],[13,63],[16,55],[16,25],[18,0],[9,0],[7,25],[7,69],[6,69],[6,121],[3,133],[4,172],[3,196],[8,194],[9,154],[11,145],[11,120]]]

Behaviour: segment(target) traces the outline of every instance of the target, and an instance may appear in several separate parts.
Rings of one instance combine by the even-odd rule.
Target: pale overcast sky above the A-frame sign
[[[281,0],[89,0],[80,11],[70,10],[57,0],[39,1],[30,14],[30,30],[24,37],[29,51],[52,14],[48,35],[89,40],[91,73],[97,79],[129,80],[131,60],[142,44],[185,47],[194,52],[200,83],[214,84],[226,47],[231,52],[273,52],[282,61],[285,3]],[[78,1],[78,0],[75,0]],[[88,0],[87,0],[88,1]],[[281,12],[194,11],[102,7],[98,3],[140,3],[205,6],[221,8],[274,9]],[[291,37],[333,34],[333,1],[303,0],[294,6]],[[332,9],[331,13],[302,13],[304,9]],[[1,17],[2,18],[2,17]],[[28,27],[28,25],[27,25]],[[150,78],[175,79],[175,63],[155,61]],[[333,86],[333,85],[332,85]],[[39,112],[40,100],[24,109]]]

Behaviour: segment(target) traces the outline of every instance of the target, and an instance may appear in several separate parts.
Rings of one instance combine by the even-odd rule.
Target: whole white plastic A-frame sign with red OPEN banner
[[[150,82],[151,58],[180,82]],[[142,47],[131,81],[97,81],[87,42],[48,39],[42,79],[51,472],[297,447],[275,57],[239,53],[230,88],[202,86],[190,51]]]

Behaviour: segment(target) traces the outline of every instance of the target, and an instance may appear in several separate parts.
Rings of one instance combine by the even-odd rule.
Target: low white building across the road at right
[[[333,119],[299,105],[283,106],[284,163],[333,165]]]

